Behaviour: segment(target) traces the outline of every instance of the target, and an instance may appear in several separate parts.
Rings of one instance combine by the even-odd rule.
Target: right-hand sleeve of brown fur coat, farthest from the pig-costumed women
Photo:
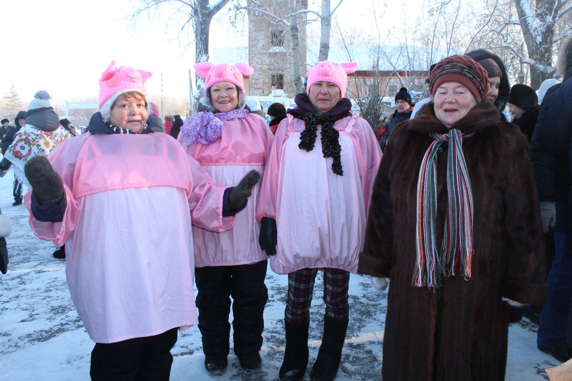
[[[503,195],[509,262],[503,296],[523,304],[545,302],[545,244],[538,192],[530,163],[529,145],[515,126],[503,123],[509,132],[506,162],[507,186]]]

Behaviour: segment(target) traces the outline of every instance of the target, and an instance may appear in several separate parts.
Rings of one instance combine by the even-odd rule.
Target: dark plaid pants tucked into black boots
[[[288,274],[288,300],[285,318],[288,323],[310,321],[317,268],[303,268]],[[349,272],[339,268],[324,268],[325,314],[334,319],[347,319]]]

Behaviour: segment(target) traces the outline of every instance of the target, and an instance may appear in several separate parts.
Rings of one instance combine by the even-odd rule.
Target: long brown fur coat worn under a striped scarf
[[[546,298],[544,240],[529,145],[490,102],[453,126],[468,134],[463,153],[474,202],[472,276],[437,290],[411,286],[419,167],[446,133],[433,103],[392,132],[374,184],[358,272],[391,279],[383,340],[383,380],[503,380],[509,306]],[[437,242],[447,209],[447,144],[438,154]],[[440,248],[440,247],[439,247]],[[459,271],[456,271],[459,274]]]

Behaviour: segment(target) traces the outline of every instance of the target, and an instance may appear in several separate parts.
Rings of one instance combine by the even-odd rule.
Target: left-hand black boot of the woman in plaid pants
[[[310,323],[284,322],[286,349],[278,374],[280,381],[298,381],[308,367],[308,327]]]

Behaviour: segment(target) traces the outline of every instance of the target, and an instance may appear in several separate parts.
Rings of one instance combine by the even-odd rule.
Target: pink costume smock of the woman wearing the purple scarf
[[[178,142],[221,184],[236,186],[251,170],[263,174],[273,138],[265,120],[259,115],[248,114],[245,118],[234,118],[223,123],[221,137],[208,145],[194,142],[185,147],[182,134]],[[260,185],[252,189],[247,207],[236,215],[232,230],[213,233],[203,228],[193,228],[196,267],[249,264],[268,258],[258,243],[260,226],[256,221],[256,200],[259,189]]]

